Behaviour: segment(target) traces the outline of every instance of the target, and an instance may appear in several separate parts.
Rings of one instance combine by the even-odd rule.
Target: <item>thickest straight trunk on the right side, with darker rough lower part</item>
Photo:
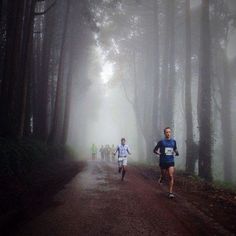
[[[207,180],[212,179],[211,38],[209,21],[209,0],[202,0],[198,98],[199,176]]]

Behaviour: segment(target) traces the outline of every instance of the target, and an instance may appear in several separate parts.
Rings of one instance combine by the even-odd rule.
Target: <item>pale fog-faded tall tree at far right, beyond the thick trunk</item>
[[[229,76],[227,48],[230,28],[235,28],[235,15],[228,8],[227,1],[213,1],[212,27],[214,62],[214,105],[220,115],[222,151],[224,155],[224,180],[232,181],[232,81]],[[220,130],[219,130],[220,131]]]

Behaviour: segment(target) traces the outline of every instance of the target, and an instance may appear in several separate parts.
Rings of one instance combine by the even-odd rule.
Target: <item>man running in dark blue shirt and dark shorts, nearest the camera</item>
[[[174,185],[174,171],[175,171],[175,162],[174,155],[178,156],[179,152],[177,150],[176,141],[171,138],[171,128],[166,127],[164,129],[165,138],[159,141],[154,148],[153,152],[157,155],[160,155],[159,166],[161,169],[161,175],[159,183],[163,182],[163,179],[167,174],[169,175],[169,198],[174,198],[173,194],[173,185]]]

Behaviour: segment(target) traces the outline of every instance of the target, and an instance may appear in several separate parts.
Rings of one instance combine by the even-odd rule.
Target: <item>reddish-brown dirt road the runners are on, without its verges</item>
[[[87,167],[14,235],[233,235],[183,196],[167,198],[165,187],[129,166],[124,182],[115,164]]]

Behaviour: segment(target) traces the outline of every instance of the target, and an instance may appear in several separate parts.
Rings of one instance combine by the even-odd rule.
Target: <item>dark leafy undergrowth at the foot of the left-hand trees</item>
[[[9,140],[0,138],[0,176],[21,177],[35,166],[45,165],[55,159],[75,156],[71,148],[48,146],[32,139]]]

